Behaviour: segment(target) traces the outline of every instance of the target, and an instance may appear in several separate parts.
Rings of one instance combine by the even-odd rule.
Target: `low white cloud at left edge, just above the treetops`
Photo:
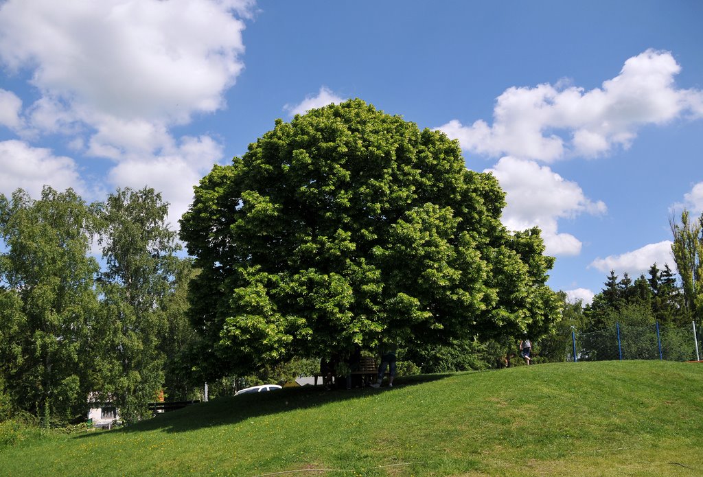
[[[18,188],[39,198],[41,188],[73,188],[86,193],[76,163],[70,157],[54,156],[49,149],[32,148],[22,141],[0,142],[0,193],[11,195]]]

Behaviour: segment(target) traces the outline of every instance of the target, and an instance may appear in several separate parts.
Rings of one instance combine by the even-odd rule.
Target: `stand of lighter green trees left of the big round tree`
[[[95,204],[49,187],[39,200],[0,195],[0,419],[28,412],[63,424],[84,419],[91,400],[134,422],[160,391],[192,389],[171,372],[193,334],[192,272],[174,256],[166,214],[148,188]]]

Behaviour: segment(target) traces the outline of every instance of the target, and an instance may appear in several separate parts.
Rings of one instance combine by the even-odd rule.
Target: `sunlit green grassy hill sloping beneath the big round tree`
[[[696,476],[702,437],[703,365],[560,363],[221,398],[23,440],[0,474]]]

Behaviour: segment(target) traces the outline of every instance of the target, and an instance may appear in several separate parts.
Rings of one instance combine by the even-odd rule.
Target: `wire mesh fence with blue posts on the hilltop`
[[[596,332],[572,331],[569,361],[603,360],[699,360],[703,354],[703,329],[688,327],[621,325]]]

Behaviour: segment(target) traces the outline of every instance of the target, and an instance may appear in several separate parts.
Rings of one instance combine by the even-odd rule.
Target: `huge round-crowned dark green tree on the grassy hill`
[[[505,230],[504,206],[456,141],[361,100],[277,120],[202,179],[181,220],[200,269],[191,318],[203,362],[237,371],[381,336],[548,329],[560,308],[545,285],[553,259],[538,230]]]

